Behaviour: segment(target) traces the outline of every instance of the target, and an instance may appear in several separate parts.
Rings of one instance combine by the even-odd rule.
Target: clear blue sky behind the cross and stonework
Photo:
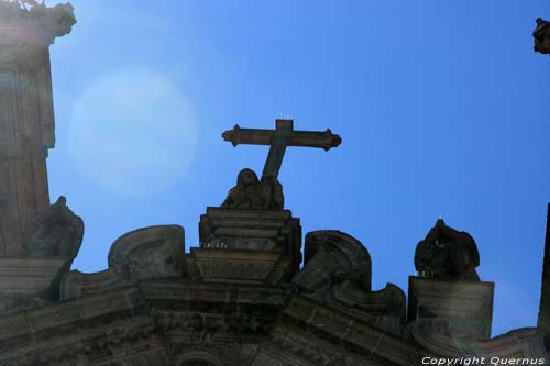
[[[50,2],[52,3],[52,2]],[[139,3],[139,4],[138,4]],[[78,1],[51,47],[52,200],[86,223],[73,268],[107,267],[128,231],[177,223],[186,247],[238,171],[267,148],[235,123],[342,136],[287,149],[279,179],[304,232],[337,229],[373,258],[373,288],[407,291],[442,215],[495,281],[493,334],[536,324],[550,201],[550,57],[532,1]]]

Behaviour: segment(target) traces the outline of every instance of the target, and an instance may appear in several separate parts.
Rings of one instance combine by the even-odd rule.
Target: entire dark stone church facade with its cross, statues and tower
[[[112,244],[105,270],[70,270],[84,222],[64,197],[50,204],[45,159],[48,47],[76,23],[73,8],[0,1],[0,365],[550,363],[548,301],[539,326],[491,337],[494,284],[477,276],[466,232],[442,220],[428,230],[408,293],[372,288],[371,256],[351,235],[302,235],[277,180],[285,149],[342,140],[289,120],[222,134],[270,154],[261,177],[241,170],[206,208],[199,247],[185,253],[179,225],[143,228]]]

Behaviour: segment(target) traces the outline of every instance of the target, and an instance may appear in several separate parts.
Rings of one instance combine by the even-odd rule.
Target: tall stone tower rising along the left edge
[[[24,255],[35,214],[50,206],[54,147],[50,45],[70,32],[73,7],[0,1],[0,256]]]

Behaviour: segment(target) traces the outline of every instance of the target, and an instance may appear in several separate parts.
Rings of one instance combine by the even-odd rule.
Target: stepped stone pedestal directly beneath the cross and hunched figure
[[[186,258],[195,280],[273,285],[301,262],[301,226],[286,210],[208,208],[199,239]]]

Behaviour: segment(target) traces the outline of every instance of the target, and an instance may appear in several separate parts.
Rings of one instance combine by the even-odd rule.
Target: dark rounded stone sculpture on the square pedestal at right
[[[473,237],[447,226],[441,219],[418,243],[415,252],[415,267],[425,277],[479,281],[475,271],[479,265],[480,254]]]

